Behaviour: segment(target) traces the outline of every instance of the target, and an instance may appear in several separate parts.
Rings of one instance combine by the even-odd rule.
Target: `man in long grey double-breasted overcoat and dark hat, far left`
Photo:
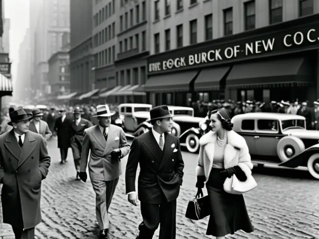
[[[29,131],[23,109],[11,112],[10,119],[13,129],[0,135],[3,222],[11,224],[16,239],[33,239],[41,222],[41,181],[51,159],[43,137]]]

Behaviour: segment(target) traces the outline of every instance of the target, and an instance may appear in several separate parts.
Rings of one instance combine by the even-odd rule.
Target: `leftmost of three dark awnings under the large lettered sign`
[[[145,83],[144,91],[189,91],[189,83],[197,76],[196,71],[151,76]]]

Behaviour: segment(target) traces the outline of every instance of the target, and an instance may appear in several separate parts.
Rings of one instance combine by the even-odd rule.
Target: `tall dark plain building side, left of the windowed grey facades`
[[[85,93],[94,88],[92,44],[93,0],[70,0],[70,92]]]

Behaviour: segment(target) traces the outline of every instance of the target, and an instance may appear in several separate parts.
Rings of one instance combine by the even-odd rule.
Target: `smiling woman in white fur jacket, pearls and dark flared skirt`
[[[206,183],[211,203],[211,215],[206,235],[225,238],[238,230],[247,233],[254,231],[246,210],[243,195],[224,191],[227,177],[236,175],[238,180],[246,181],[253,164],[250,160],[245,139],[232,131],[233,124],[224,108],[211,112],[211,131],[200,140],[198,166],[196,168],[197,195],[203,196],[202,188]]]

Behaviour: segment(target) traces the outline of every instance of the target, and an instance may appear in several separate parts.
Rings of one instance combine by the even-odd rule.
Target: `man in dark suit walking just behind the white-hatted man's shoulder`
[[[82,114],[83,111],[79,107],[75,107],[73,110],[74,120],[70,124],[70,147],[73,153],[75,170],[77,171],[76,180],[80,180],[80,161],[84,130],[93,126],[89,120],[81,117]]]

